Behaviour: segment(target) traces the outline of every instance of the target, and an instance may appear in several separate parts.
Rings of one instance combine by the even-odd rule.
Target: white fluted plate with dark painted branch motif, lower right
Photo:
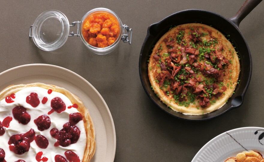
[[[192,162],[223,162],[239,152],[254,150],[264,155],[264,128],[243,127],[224,132],[206,143]]]

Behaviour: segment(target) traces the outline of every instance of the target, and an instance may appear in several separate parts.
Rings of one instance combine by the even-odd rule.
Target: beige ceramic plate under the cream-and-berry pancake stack
[[[63,87],[78,96],[88,108],[95,127],[96,151],[92,162],[113,162],[116,131],[113,118],[99,92],[78,74],[55,65],[29,64],[0,74],[0,91],[13,84],[42,82]]]

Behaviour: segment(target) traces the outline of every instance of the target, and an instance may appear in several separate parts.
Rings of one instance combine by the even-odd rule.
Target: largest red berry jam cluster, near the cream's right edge
[[[65,123],[60,131],[56,128],[50,130],[50,135],[57,139],[54,146],[66,147],[78,141],[81,131],[75,124],[82,120],[82,114],[72,113],[69,118],[70,122]]]

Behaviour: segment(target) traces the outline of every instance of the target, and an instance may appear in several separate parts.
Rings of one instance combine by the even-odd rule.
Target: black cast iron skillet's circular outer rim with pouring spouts
[[[246,84],[246,86],[245,86],[244,89],[243,89],[242,94],[239,95],[239,96],[242,97],[242,102],[241,102],[241,104],[238,105],[238,106],[231,106],[231,107],[227,108],[226,111],[223,111],[223,112],[221,112],[220,114],[217,114],[217,115],[215,115],[215,116],[211,116],[211,117],[208,117],[208,118],[204,118],[204,119],[187,119],[187,118],[182,118],[182,117],[176,116],[176,115],[174,115],[174,114],[171,114],[169,111],[165,110],[164,108],[161,108],[161,107],[159,106],[159,104],[156,103],[154,99],[152,99],[152,97],[150,96],[149,92],[147,91],[146,86],[145,86],[145,84],[144,84],[144,82],[143,82],[142,73],[141,73],[141,57],[142,57],[142,53],[143,53],[143,47],[145,47],[146,41],[147,41],[147,39],[149,39],[149,36],[150,36],[149,28],[152,27],[153,25],[160,25],[160,24],[161,24],[162,22],[164,22],[166,19],[169,19],[170,17],[172,17],[172,16],[174,16],[174,15],[177,15],[177,14],[179,14],[179,13],[184,13],[184,12],[206,12],[206,13],[214,14],[214,15],[216,15],[216,16],[219,16],[219,17],[225,19],[225,20],[226,20],[227,22],[229,22],[233,27],[235,27],[235,29],[236,29],[236,30],[238,31],[238,33],[241,35],[241,37],[243,38],[243,41],[245,42],[245,44],[246,44],[246,46],[247,46],[247,50],[248,50],[247,52],[248,52],[248,55],[249,55],[249,62],[250,62],[250,65],[249,65],[249,68],[250,68],[250,69],[249,69],[249,77],[248,77],[248,80],[247,80],[247,84]],[[222,114],[224,114],[224,113],[226,113],[226,112],[232,110],[233,108],[238,108],[238,107],[240,107],[240,106],[242,105],[243,100],[244,100],[244,95],[245,95],[245,93],[246,93],[246,91],[247,91],[247,88],[248,88],[249,83],[250,83],[251,75],[252,75],[252,57],[251,57],[251,52],[250,52],[250,50],[249,50],[248,44],[247,44],[247,42],[246,42],[244,36],[243,36],[242,33],[240,32],[238,26],[235,25],[232,21],[230,21],[229,19],[226,19],[225,17],[223,17],[223,16],[221,16],[221,15],[219,15],[219,14],[217,14],[217,13],[211,12],[211,11],[207,11],[207,10],[198,10],[198,9],[190,9],[190,10],[183,10],[183,11],[179,11],[179,12],[173,13],[173,14],[171,14],[170,16],[167,16],[166,18],[162,19],[161,21],[156,22],[156,23],[154,23],[154,24],[152,24],[152,25],[150,25],[150,26],[148,27],[147,35],[146,35],[146,38],[145,38],[145,40],[144,40],[144,42],[143,42],[143,45],[142,45],[142,48],[141,48],[141,51],[140,51],[140,57],[139,57],[139,73],[140,73],[140,81],[141,81],[141,84],[142,84],[142,86],[143,86],[143,88],[144,88],[146,94],[149,96],[149,98],[152,100],[152,102],[155,103],[155,105],[158,106],[161,110],[165,111],[167,114],[170,114],[171,116],[176,117],[176,118],[178,118],[178,119],[187,120],[187,121],[205,121],[205,120],[210,120],[210,119],[216,118],[216,117],[218,117],[218,116],[220,116],[220,115],[222,115]],[[242,87],[242,88],[243,88],[243,87]],[[179,112],[179,113],[180,113],[180,112]]]

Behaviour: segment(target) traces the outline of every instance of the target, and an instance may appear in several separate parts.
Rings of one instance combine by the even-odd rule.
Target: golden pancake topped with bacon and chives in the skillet
[[[190,23],[165,33],[149,58],[149,80],[157,96],[175,111],[210,113],[232,96],[239,58],[220,31]]]

